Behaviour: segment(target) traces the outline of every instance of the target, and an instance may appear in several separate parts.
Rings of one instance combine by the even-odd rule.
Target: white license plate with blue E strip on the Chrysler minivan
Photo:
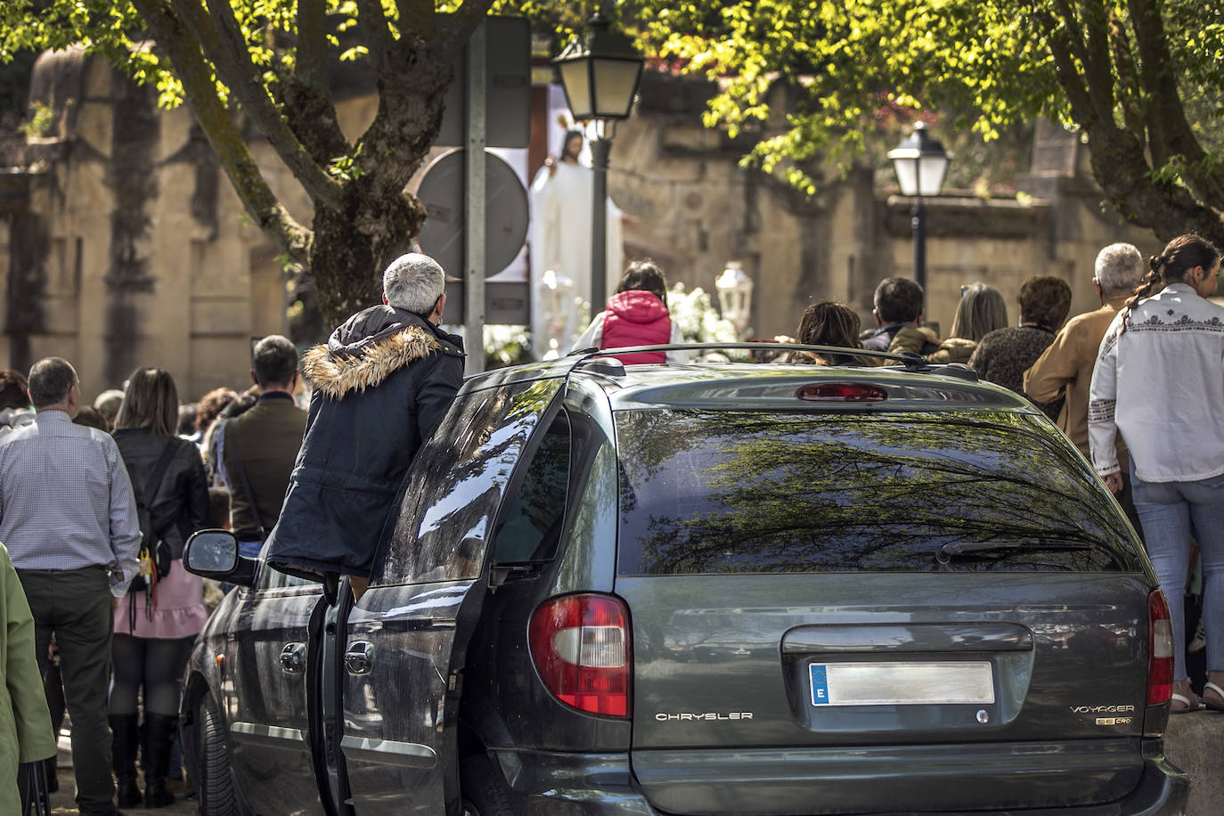
[[[812,663],[814,706],[931,706],[994,702],[990,663]]]

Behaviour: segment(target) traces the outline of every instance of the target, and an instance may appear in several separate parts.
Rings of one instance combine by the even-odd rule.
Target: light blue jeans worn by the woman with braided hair
[[[1182,596],[1191,538],[1198,542],[1203,562],[1207,669],[1224,669],[1224,476],[1197,482],[1144,482],[1133,475],[1131,480],[1148,558],[1173,617],[1173,679],[1189,679]]]

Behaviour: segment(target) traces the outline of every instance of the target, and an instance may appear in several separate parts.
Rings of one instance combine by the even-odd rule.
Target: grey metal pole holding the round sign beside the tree
[[[465,373],[485,371],[485,23],[476,26],[468,40],[468,84],[464,93],[468,144],[464,174],[468,197],[464,202],[464,347]]]

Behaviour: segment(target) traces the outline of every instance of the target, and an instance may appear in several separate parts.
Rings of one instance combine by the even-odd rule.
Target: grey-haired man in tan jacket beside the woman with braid
[[[1066,396],[1058,425],[1088,460],[1088,388],[1097,365],[1100,340],[1126,299],[1140,285],[1147,267],[1143,256],[1131,243],[1110,243],[1097,254],[1092,283],[1100,297],[1100,308],[1084,312],[1059,330],[1054,343],[1024,372],[1024,395],[1037,404],[1053,402]],[[1126,477],[1126,450],[1119,439],[1119,460],[1122,462],[1124,488],[1118,494],[1135,529],[1140,529],[1130,502],[1130,478]]]

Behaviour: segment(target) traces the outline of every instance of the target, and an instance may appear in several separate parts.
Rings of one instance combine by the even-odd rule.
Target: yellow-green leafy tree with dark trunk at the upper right
[[[812,190],[874,124],[936,116],[985,138],[1047,115],[1077,130],[1105,196],[1170,239],[1224,246],[1218,0],[645,0],[651,48],[720,82],[707,124],[755,127],[750,160]],[[789,110],[772,110],[785,82]]]

